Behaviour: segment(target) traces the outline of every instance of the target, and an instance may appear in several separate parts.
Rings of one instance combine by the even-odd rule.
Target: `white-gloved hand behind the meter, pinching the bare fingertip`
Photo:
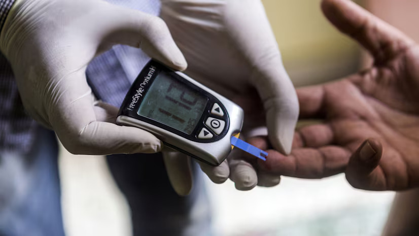
[[[189,63],[186,74],[245,110],[242,136],[266,134],[266,128],[262,133],[252,130],[267,126],[272,146],[289,154],[298,99],[260,0],[161,2],[161,17]],[[166,163],[182,158],[179,153],[165,156]],[[230,176],[240,190],[279,183],[277,176],[258,174],[255,161],[234,149],[220,166],[201,163],[201,168],[216,183]],[[192,186],[190,174],[175,176],[178,179],[171,180],[172,185],[178,193],[187,194]]]

